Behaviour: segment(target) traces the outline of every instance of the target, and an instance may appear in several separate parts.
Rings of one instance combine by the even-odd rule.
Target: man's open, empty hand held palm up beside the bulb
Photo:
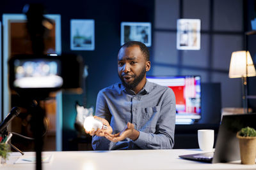
[[[134,124],[128,122],[122,132],[118,132],[117,134],[109,134],[108,132],[105,132],[104,136],[105,138],[109,139],[109,141],[118,142],[124,140],[125,138],[130,138],[135,141],[138,139],[139,135],[140,132],[134,129]]]

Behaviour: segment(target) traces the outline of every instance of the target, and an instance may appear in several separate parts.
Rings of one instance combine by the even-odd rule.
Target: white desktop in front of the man
[[[180,159],[179,155],[198,153],[199,150],[128,150],[109,152],[44,152],[53,155],[52,161],[42,164],[46,170],[108,170],[108,169],[256,169],[256,165],[241,165],[240,161],[227,164],[209,164]],[[24,156],[35,155],[26,152]],[[11,153],[4,169],[35,169],[34,164],[13,164],[21,157]]]

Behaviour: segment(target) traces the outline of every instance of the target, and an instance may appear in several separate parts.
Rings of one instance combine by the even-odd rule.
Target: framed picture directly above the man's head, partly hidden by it
[[[140,41],[151,46],[151,23],[121,22],[121,45],[127,41]]]

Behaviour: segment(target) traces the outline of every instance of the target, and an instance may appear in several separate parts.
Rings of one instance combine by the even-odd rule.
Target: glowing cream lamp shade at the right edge
[[[247,56],[247,64],[246,64],[246,56]],[[246,75],[246,66],[247,66],[247,75]],[[228,76],[229,78],[256,76],[256,71],[252,62],[252,57],[250,55],[250,52],[247,51],[247,55],[245,51],[232,52]]]

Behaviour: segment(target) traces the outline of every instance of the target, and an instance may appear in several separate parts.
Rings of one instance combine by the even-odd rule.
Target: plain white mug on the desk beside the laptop
[[[214,130],[201,129],[197,131],[200,150],[211,152],[214,143]]]

